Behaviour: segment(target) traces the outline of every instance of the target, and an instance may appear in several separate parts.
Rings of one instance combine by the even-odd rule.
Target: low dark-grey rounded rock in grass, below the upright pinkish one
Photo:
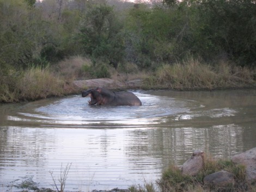
[[[228,171],[218,171],[204,177],[204,184],[210,187],[227,187],[235,184],[234,175]]]

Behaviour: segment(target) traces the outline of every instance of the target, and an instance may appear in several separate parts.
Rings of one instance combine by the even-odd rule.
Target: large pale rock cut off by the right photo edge
[[[246,152],[236,154],[231,158],[234,163],[246,166],[246,179],[256,182],[256,147]]]

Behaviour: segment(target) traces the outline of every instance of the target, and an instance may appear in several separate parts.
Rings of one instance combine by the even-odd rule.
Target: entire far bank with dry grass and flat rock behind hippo
[[[190,58],[181,63],[159,64],[151,71],[113,69],[108,66],[109,77],[94,78],[88,75],[84,60],[28,70],[3,76],[0,80],[0,102],[34,101],[48,97],[78,94],[81,90],[97,86],[108,89],[171,89],[216,90],[256,88],[256,70],[220,61],[215,65]],[[68,65],[69,64],[69,65]],[[67,66],[66,66],[67,65]],[[89,64],[88,64],[89,65]],[[131,65],[131,64],[130,64]],[[59,67],[62,66],[61,70]],[[133,68],[134,65],[126,66]],[[72,70],[68,70],[72,69]],[[93,67],[90,67],[92,70]],[[128,71],[128,72],[127,72]]]

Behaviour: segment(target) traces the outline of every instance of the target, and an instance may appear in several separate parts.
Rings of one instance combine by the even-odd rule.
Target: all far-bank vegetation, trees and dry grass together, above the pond
[[[254,0],[0,0],[0,10],[1,102],[117,73],[147,74],[145,88],[255,84]]]

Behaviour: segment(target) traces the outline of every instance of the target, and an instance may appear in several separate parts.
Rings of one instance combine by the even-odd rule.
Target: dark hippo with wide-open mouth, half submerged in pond
[[[105,88],[96,88],[82,91],[82,97],[90,96],[89,105],[108,106],[141,106],[141,100],[132,92],[111,91]]]

